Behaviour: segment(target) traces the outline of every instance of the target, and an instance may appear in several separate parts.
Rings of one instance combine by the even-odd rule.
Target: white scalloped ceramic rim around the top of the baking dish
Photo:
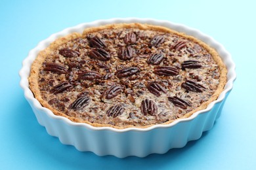
[[[179,32],[184,32],[187,35],[192,35],[193,37],[196,37],[197,39],[202,40],[206,44],[209,44],[209,46],[215,48],[215,50],[217,50],[217,52],[219,53],[221,58],[224,60],[224,64],[226,65],[226,68],[228,70],[228,73],[227,73],[228,80],[226,82],[226,85],[224,86],[223,92],[221,92],[218,99],[211,102],[206,109],[199,110],[198,112],[195,112],[194,114],[192,114],[192,116],[190,116],[188,118],[182,118],[179,120],[175,120],[175,121],[171,122],[170,124],[156,124],[156,125],[146,127],[146,128],[127,127],[125,129],[116,129],[114,127],[95,127],[95,126],[91,126],[91,125],[85,124],[85,123],[72,122],[68,118],[65,118],[63,116],[57,116],[57,115],[53,114],[53,112],[51,110],[49,110],[45,107],[42,107],[41,103],[39,103],[39,101],[37,101],[37,99],[35,99],[32,91],[29,88],[29,82],[28,82],[28,76],[30,76],[30,67],[32,65],[33,60],[36,58],[37,54],[41,50],[43,50],[44,48],[49,46],[49,44],[51,42],[56,40],[58,37],[63,37],[65,35],[68,35],[73,32],[82,33],[83,29],[85,29],[86,27],[95,27],[95,26],[99,26],[99,25],[117,24],[117,23],[134,23],[134,22],[169,27],[169,28],[177,30]],[[224,56],[224,58],[223,58],[223,56]],[[182,25],[182,24],[175,24],[175,23],[169,22],[167,20],[154,20],[151,18],[112,18],[112,19],[108,19],[108,20],[96,20],[94,22],[83,23],[83,24],[76,25],[74,27],[68,27],[68,28],[64,29],[63,31],[54,33],[47,39],[39,42],[39,44],[37,44],[37,46],[35,48],[30,50],[28,57],[25,58],[24,61],[22,62],[22,69],[20,69],[19,74],[20,74],[20,78],[21,78],[20,86],[24,89],[24,95],[25,95],[26,99],[32,101],[32,104],[34,107],[47,113],[48,116],[50,116],[51,118],[63,120],[64,122],[66,122],[66,124],[69,124],[70,126],[83,126],[88,129],[95,130],[95,131],[110,130],[110,131],[115,131],[117,133],[118,132],[122,133],[125,131],[150,131],[155,128],[169,128],[169,127],[175,126],[179,122],[186,122],[186,121],[193,120],[199,114],[203,114],[204,112],[211,110],[216,103],[223,101],[226,93],[228,93],[230,90],[232,90],[234,80],[236,80],[235,69],[236,69],[236,66],[234,64],[234,61],[232,60],[230,53],[228,51],[226,51],[224,46],[222,44],[220,44],[219,42],[215,41],[215,39],[213,39],[212,37],[205,35],[198,29],[190,28],[190,27],[187,27],[186,25]]]

